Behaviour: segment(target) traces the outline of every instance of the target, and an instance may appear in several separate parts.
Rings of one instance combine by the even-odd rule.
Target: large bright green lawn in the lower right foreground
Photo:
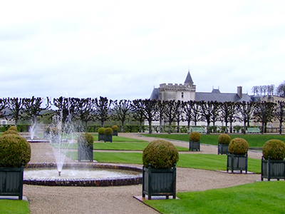
[[[145,200],[161,213],[285,213],[285,181],[177,193],[179,200]]]

